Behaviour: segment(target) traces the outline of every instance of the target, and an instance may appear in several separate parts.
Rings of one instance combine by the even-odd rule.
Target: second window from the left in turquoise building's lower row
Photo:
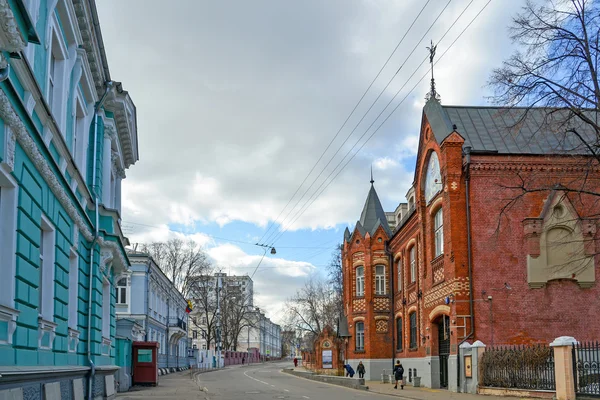
[[[38,287],[38,313],[42,319],[54,320],[54,228],[42,217],[40,231],[40,268]]]

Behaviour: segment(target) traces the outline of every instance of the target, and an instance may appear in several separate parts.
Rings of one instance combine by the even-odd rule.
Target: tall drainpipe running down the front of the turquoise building
[[[92,400],[92,382],[93,382],[94,376],[96,375],[96,365],[94,364],[94,361],[92,360],[92,292],[94,290],[94,281],[93,281],[92,275],[94,272],[94,246],[96,246],[96,243],[98,242],[99,220],[100,220],[99,213],[98,213],[98,203],[99,203],[98,191],[96,190],[96,163],[98,160],[98,157],[96,157],[96,151],[97,151],[96,146],[98,143],[98,119],[99,119],[98,113],[100,111],[100,108],[104,104],[106,97],[112,91],[112,89],[113,89],[113,81],[107,81],[106,82],[106,91],[100,98],[100,101],[98,101],[98,103],[96,103],[96,106],[94,107],[94,152],[92,153],[93,154],[93,158],[92,158],[92,201],[94,202],[94,212],[96,215],[96,221],[95,221],[95,226],[94,226],[94,238],[92,239],[92,245],[90,246],[90,260],[89,260],[90,284],[89,284],[89,288],[88,288],[87,357],[88,357],[88,363],[90,364],[91,369],[90,369],[90,376],[88,378],[88,400]]]

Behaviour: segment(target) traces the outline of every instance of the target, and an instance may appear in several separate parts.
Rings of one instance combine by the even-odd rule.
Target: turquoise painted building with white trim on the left
[[[0,0],[0,398],[115,393],[138,144],[99,26],[94,0]]]

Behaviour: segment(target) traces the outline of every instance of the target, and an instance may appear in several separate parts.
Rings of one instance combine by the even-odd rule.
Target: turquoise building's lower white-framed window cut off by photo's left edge
[[[12,344],[19,311],[15,307],[15,276],[17,250],[17,205],[19,186],[13,177],[0,168],[0,322],[6,322],[6,340]]]

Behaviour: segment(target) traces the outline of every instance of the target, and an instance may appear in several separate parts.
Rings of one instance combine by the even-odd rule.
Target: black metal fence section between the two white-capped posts
[[[556,390],[554,352],[548,346],[488,347],[480,363],[481,386]]]

